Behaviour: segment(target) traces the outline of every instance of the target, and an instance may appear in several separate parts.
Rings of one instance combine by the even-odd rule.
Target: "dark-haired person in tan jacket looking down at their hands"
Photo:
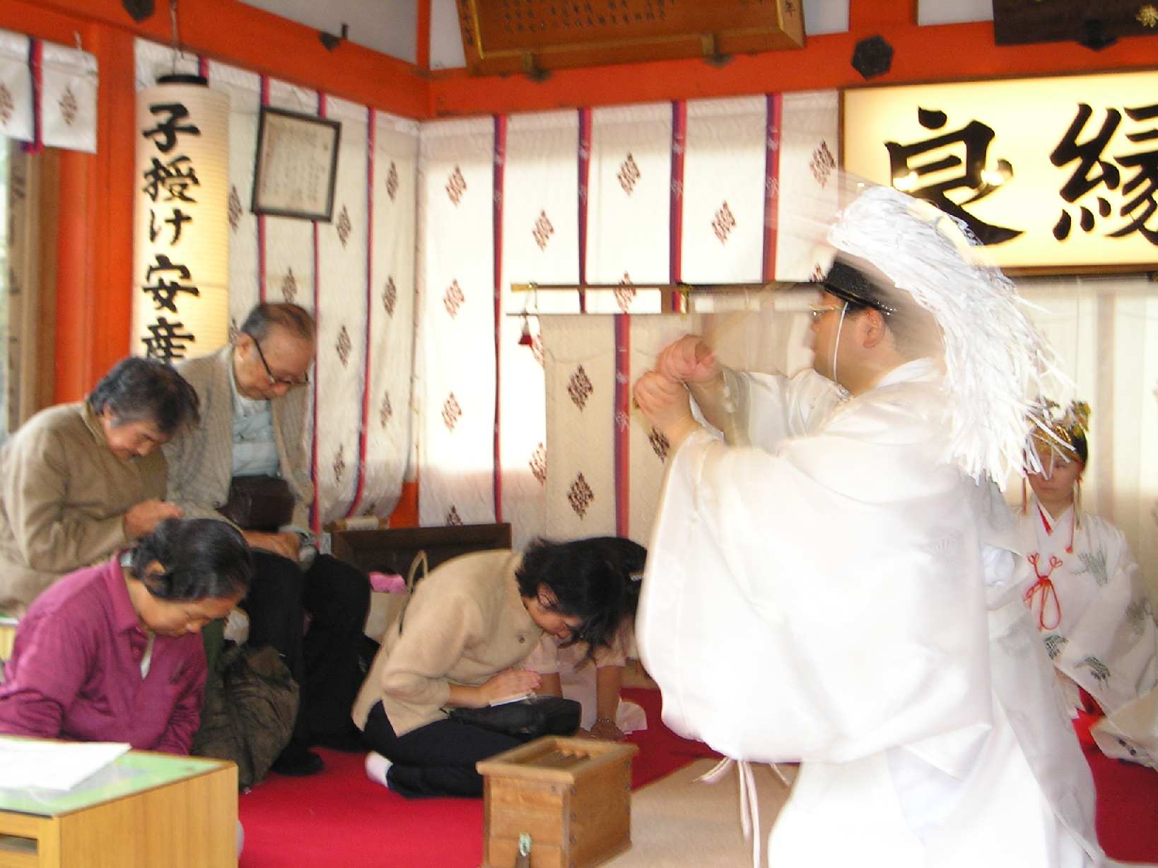
[[[22,425],[0,449],[0,612],[22,615],[61,575],[181,517],[156,447],[197,419],[177,372],[130,358],[85,400]]]

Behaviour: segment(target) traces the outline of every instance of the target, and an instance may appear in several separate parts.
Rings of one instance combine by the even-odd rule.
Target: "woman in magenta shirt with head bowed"
[[[200,630],[249,589],[249,546],[226,522],[168,518],[44,591],[16,628],[0,733],[188,753],[200,722]]]

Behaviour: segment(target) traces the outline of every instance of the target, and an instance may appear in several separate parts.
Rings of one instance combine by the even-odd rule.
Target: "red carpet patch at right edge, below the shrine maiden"
[[[1098,790],[1098,840],[1112,859],[1158,862],[1158,772],[1102,753],[1090,735],[1098,720],[1073,721]]]

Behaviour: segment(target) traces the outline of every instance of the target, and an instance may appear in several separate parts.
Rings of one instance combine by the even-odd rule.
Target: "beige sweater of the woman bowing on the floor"
[[[441,720],[450,684],[482,684],[530,655],[543,631],[519,596],[521,562],[506,549],[474,552],[418,582],[401,628],[396,620],[387,631],[358,693],[359,729],[380,699],[395,735]]]

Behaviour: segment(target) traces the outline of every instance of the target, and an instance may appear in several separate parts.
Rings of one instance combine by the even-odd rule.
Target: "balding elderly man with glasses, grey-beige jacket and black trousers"
[[[314,486],[302,440],[316,326],[296,304],[258,304],[236,339],[177,367],[197,390],[201,421],[166,447],[169,493],[189,516],[227,517],[254,549],[242,602],[250,645],[272,645],[301,686],[294,737],[273,771],[313,774],[314,743],[359,745],[350,707],[369,582],[317,554],[309,534]],[[302,632],[305,613],[309,628]]]

